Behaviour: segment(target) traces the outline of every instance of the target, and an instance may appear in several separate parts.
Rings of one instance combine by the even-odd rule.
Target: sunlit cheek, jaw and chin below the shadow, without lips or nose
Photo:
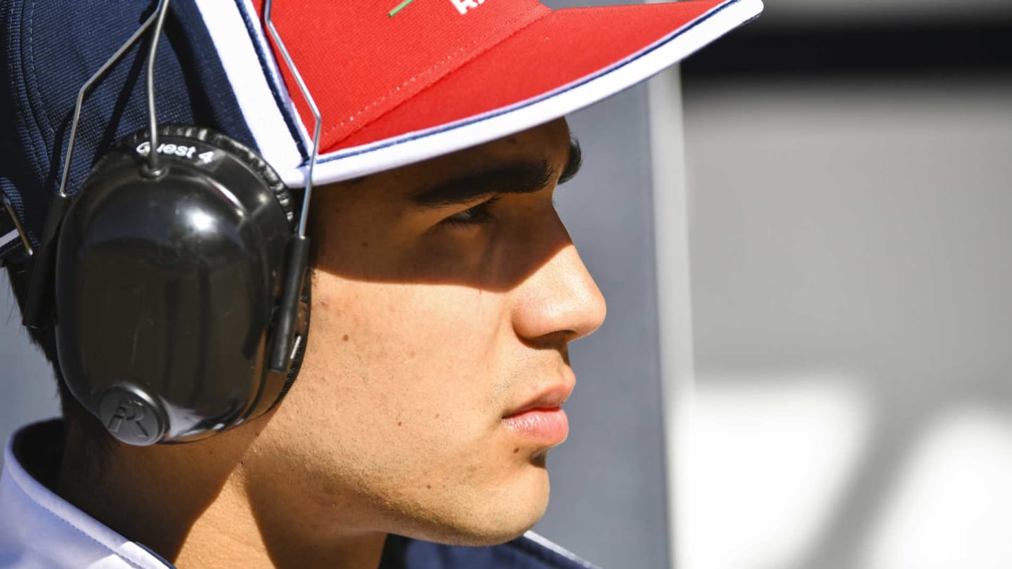
[[[523,372],[507,297],[333,275],[314,286],[306,362],[253,470],[283,471],[290,499],[322,515],[415,537],[456,527],[452,540],[501,542],[532,525],[546,474],[501,419],[536,374]]]

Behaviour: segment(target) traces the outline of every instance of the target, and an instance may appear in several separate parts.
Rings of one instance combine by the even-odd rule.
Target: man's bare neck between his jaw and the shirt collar
[[[284,473],[273,486],[247,483],[260,425],[186,444],[110,442],[96,453],[72,424],[58,493],[180,569],[380,565],[386,534],[342,526],[339,512],[286,507]]]

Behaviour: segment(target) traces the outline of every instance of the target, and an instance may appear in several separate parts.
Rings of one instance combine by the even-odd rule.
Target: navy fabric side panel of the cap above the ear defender
[[[12,0],[0,8],[6,46],[0,187],[37,241],[46,204],[60,183],[74,102],[81,85],[151,14],[157,2]],[[72,5],[74,9],[68,9]],[[148,123],[142,38],[85,98],[68,191],[120,137]],[[159,123],[186,123],[226,133],[252,148],[247,127],[210,36],[191,0],[176,0],[158,47],[155,90]]]

